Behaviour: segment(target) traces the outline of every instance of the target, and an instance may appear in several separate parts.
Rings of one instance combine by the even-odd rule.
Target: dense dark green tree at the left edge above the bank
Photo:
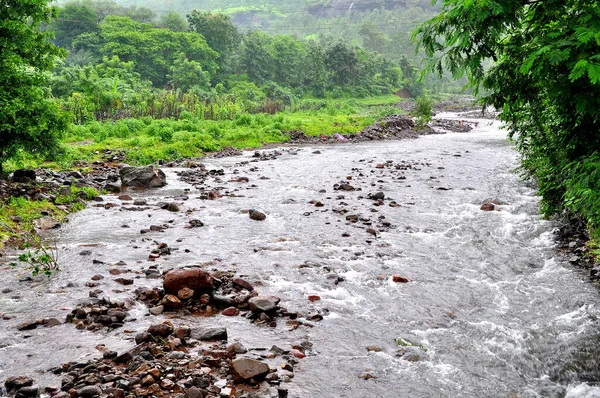
[[[0,0],[0,173],[21,150],[59,148],[66,118],[50,98],[47,72],[65,51],[39,29],[56,15],[47,0]]]

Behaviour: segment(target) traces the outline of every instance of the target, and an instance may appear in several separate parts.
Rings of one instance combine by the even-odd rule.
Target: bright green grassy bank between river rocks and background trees
[[[401,113],[400,108],[394,107],[399,101],[393,95],[359,100],[303,100],[293,109],[273,115],[232,113],[223,120],[205,120],[201,115],[183,112],[177,120],[143,117],[72,124],[63,138],[60,160],[39,162],[23,154],[8,168],[70,168],[75,161],[99,160],[105,150],[122,150],[128,163],[142,165],[196,158],[228,146],[258,148],[285,142],[285,132],[291,130],[311,136],[353,134],[383,116]]]

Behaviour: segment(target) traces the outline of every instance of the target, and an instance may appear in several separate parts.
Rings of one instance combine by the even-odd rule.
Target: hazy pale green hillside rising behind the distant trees
[[[93,0],[98,3],[107,0]],[[59,0],[66,4],[71,0]],[[317,35],[355,41],[388,55],[411,56],[410,33],[435,15],[430,0],[117,0],[122,7],[149,8],[157,15],[192,10],[226,14],[242,31],[299,38]],[[391,47],[391,48],[390,48]],[[382,51],[383,48],[386,50]]]

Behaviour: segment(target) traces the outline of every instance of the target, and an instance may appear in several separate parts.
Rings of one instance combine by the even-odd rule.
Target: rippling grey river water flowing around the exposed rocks
[[[15,318],[0,320],[0,379],[30,374],[56,384],[45,370],[99,356],[99,343],[130,347],[133,331],[162,318],[137,304],[136,320],[111,332],[71,324],[16,331],[26,320],[64,319],[88,296],[84,283],[92,275],[105,276],[98,289],[126,298],[135,287],[159,284],[139,273],[151,264],[161,270],[204,264],[236,269],[290,310],[324,314],[314,327],[293,331],[285,322],[266,328],[239,317],[175,320],[224,325],[230,340],[250,347],[309,341],[310,355],[286,386],[291,397],[600,397],[600,296],[557,254],[555,225],[540,218],[534,187],[514,173],[516,155],[498,124],[481,121],[467,134],[282,152],[259,162],[250,162],[252,152],[206,159],[209,169],[225,170],[221,181],[207,184],[238,188],[238,197],[200,200],[175,170],[166,170],[167,187],[133,196],[153,204],[188,193],[186,201],[175,198],[178,213],[90,207],[73,215],[49,237],[57,240],[63,268],[50,281],[18,282],[2,268],[0,312]],[[386,161],[411,167],[376,167]],[[250,183],[228,182],[239,176]],[[334,191],[341,182],[361,190]],[[386,195],[382,206],[364,198],[377,191]],[[486,199],[502,205],[481,211]],[[324,206],[309,203],[315,200]],[[400,206],[390,207],[391,200]],[[244,212],[250,208],[267,220],[250,220]],[[342,209],[348,212],[336,212]],[[349,223],[350,214],[364,221]],[[184,228],[192,218],[205,227]],[[377,237],[366,232],[380,229],[381,221],[391,225]],[[170,228],[140,234],[151,224]],[[178,250],[151,263],[154,241]],[[106,264],[119,261],[136,278],[132,288],[107,272]],[[394,283],[392,275],[410,282]],[[309,295],[321,300],[309,302]],[[399,337],[413,346],[399,347]]]

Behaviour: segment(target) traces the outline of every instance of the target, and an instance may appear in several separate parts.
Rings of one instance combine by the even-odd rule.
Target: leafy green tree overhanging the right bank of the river
[[[600,1],[443,0],[414,36],[427,71],[466,74],[489,93],[544,210],[595,208],[588,221],[600,226],[600,172],[574,174],[600,169]],[[586,162],[597,164],[575,167]]]

